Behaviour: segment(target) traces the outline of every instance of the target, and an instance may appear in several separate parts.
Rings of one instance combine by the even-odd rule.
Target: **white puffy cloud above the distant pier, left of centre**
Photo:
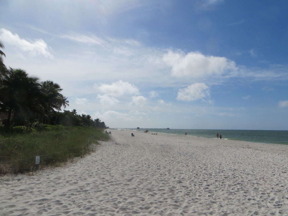
[[[122,96],[124,94],[139,94],[139,89],[136,88],[136,86],[128,82],[123,82],[122,80],[112,83],[111,85],[101,84],[99,90],[114,97]]]

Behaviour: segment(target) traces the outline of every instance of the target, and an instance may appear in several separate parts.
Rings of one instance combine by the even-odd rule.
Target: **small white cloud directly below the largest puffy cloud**
[[[179,89],[177,100],[178,101],[197,101],[204,100],[209,96],[209,88],[204,83],[194,83],[186,88]]]

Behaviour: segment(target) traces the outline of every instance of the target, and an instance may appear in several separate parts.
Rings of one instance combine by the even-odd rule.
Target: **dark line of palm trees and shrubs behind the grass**
[[[0,48],[4,48],[0,41]],[[60,85],[52,80],[40,81],[23,69],[6,67],[5,53],[0,50],[0,113],[6,113],[3,124],[7,127],[31,127],[38,124],[64,126],[94,126],[105,128],[105,122],[79,115],[76,110],[61,110],[69,106],[68,98],[61,94]]]

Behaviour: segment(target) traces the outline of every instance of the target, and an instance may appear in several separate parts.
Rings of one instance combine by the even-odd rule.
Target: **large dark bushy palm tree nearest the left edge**
[[[8,113],[6,126],[11,124],[12,113],[14,122],[23,125],[43,112],[43,96],[38,77],[10,67],[0,86],[0,111]]]

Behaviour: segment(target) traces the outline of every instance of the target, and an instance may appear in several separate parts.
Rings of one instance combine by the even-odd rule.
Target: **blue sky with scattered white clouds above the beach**
[[[288,130],[288,1],[0,2],[4,64],[58,83],[66,110],[110,128]]]

